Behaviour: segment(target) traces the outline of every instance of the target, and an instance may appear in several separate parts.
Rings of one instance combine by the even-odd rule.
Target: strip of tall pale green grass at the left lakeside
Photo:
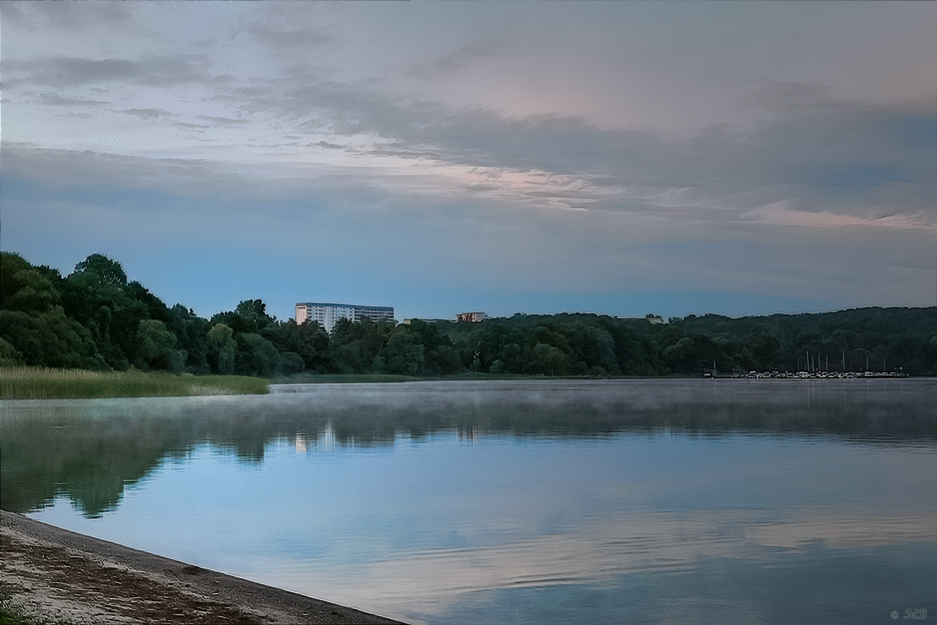
[[[0,367],[0,399],[75,397],[180,397],[265,394],[267,380],[245,376],[174,376],[170,373]]]

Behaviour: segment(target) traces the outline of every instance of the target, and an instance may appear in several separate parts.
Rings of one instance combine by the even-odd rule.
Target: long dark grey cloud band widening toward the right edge
[[[725,209],[786,201],[799,211],[934,216],[937,119],[926,105],[874,105],[827,97],[811,85],[781,86],[783,112],[759,125],[713,126],[689,138],[605,130],[574,117],[452,111],[336,84],[271,85],[260,97],[256,91],[228,97],[250,112],[274,112],[298,133],[383,140],[360,154],[573,176],[589,188],[553,197],[594,200],[594,209],[627,210],[644,204],[643,195],[676,189],[683,204]],[[629,192],[599,192],[611,186]]]

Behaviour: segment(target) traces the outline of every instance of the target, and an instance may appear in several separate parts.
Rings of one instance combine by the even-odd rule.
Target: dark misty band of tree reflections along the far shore
[[[480,433],[574,439],[748,431],[931,446],[934,381],[321,384],[278,387],[267,396],[5,401],[0,507],[22,513],[66,494],[98,517],[118,505],[127,485],[205,442],[258,465],[284,437],[297,451],[329,452],[451,429],[467,442]]]

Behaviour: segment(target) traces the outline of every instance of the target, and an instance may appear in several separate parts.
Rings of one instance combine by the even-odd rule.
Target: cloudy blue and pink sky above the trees
[[[3,3],[0,247],[210,317],[937,305],[937,3]]]

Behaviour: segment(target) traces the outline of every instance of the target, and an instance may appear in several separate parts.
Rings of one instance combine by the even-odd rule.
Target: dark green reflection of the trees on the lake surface
[[[66,495],[85,516],[117,507],[128,485],[160,463],[183,459],[210,444],[247,463],[261,463],[275,440],[320,441],[338,447],[393,445],[401,437],[423,439],[440,431],[478,436],[592,438],[617,433],[671,432],[712,436],[747,431],[762,434],[821,434],[866,443],[933,445],[937,417],[932,401],[803,402],[678,401],[659,406],[635,402],[573,401],[504,394],[467,400],[425,401],[419,396],[381,406],[379,395],[354,403],[296,394],[217,402],[166,399],[131,407],[112,404],[95,413],[94,403],[5,409],[0,422],[0,507],[37,510]],[[341,404],[344,403],[344,407]],[[393,404],[397,404],[394,406]],[[337,406],[335,405],[337,404]],[[110,413],[108,413],[110,412]],[[30,414],[32,413],[32,414]],[[313,442],[310,452],[328,451]]]

